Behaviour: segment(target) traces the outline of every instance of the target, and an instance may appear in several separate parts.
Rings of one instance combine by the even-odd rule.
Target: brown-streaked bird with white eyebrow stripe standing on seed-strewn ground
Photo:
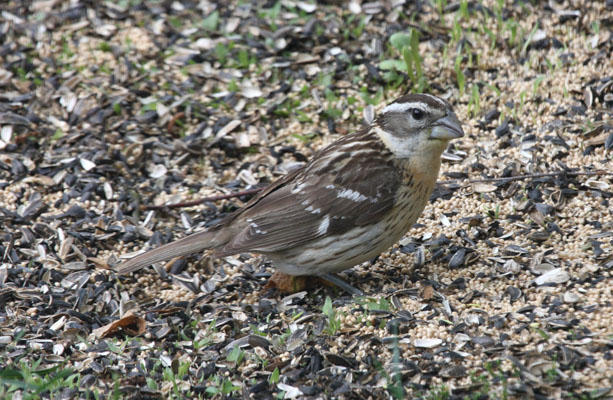
[[[368,127],[319,150],[217,225],[115,270],[127,274],[212,250],[217,257],[262,254],[283,274],[338,284],[332,274],[375,258],[415,224],[436,184],[441,154],[463,136],[447,101],[405,94]]]

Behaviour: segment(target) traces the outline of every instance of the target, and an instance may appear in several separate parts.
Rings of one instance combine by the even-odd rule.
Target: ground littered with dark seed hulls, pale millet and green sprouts
[[[0,398],[612,398],[611,1],[0,9]],[[113,271],[411,91],[466,136],[366,296]]]

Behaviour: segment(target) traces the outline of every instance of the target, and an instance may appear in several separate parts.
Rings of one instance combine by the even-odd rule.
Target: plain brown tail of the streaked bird
[[[202,231],[194,233],[175,242],[167,243],[153,250],[138,255],[124,263],[121,263],[115,271],[120,275],[138,271],[141,268],[157,262],[170,260],[174,257],[199,253],[218,246],[216,240],[218,231]]]

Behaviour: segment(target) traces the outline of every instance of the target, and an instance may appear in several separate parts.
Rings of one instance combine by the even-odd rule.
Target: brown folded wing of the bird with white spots
[[[217,253],[289,249],[376,223],[392,209],[401,178],[390,162],[374,158],[335,165],[334,171],[303,169],[294,179],[258,196],[240,214],[244,228]],[[343,170],[355,165],[360,169],[350,174]]]

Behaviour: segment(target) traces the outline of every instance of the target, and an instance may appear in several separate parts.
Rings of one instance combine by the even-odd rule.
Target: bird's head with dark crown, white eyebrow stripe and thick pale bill
[[[398,158],[439,157],[451,139],[464,136],[451,105],[429,94],[399,97],[383,108],[374,124]]]

